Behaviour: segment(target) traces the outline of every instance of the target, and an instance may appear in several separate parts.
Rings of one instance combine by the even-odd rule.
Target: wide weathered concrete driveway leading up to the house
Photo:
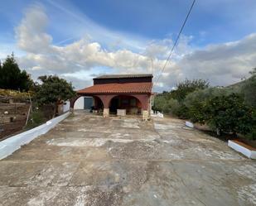
[[[0,161],[0,205],[256,205],[256,161],[183,126],[76,112]]]

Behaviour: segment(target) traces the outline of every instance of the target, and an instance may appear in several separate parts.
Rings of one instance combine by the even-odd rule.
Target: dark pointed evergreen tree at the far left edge
[[[31,84],[32,80],[25,70],[21,71],[13,53],[8,55],[0,67],[0,88],[27,91]]]

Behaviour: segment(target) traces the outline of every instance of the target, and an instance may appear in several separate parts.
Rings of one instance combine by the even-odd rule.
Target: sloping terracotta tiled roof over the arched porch
[[[152,83],[95,84],[94,86],[80,89],[77,93],[152,93]]]

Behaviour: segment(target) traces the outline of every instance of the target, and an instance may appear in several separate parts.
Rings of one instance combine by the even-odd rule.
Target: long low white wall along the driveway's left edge
[[[11,155],[13,151],[17,151],[22,145],[25,145],[32,141],[33,139],[35,139],[36,137],[45,134],[46,132],[51,130],[51,128],[55,127],[56,124],[64,120],[69,115],[70,113],[64,113],[59,117],[55,117],[47,121],[41,126],[32,128],[31,130],[22,132],[15,136],[9,137],[6,140],[0,141],[0,160]]]

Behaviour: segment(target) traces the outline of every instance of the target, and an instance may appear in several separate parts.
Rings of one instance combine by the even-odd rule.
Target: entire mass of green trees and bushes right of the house
[[[204,80],[186,79],[175,91],[158,94],[153,109],[256,140],[256,69],[250,74],[227,88],[209,88]]]

